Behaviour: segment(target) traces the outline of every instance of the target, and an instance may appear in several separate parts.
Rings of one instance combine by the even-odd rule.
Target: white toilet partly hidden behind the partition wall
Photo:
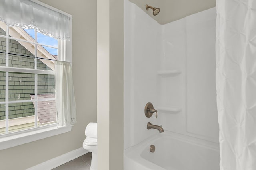
[[[92,162],[90,170],[97,170],[97,123],[89,123],[85,128],[86,138],[83,148],[92,152]]]

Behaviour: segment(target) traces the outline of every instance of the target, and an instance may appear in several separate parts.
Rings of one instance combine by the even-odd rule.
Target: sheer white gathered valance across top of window
[[[8,26],[36,29],[57,39],[69,39],[68,20],[64,14],[30,0],[0,0],[0,21]]]

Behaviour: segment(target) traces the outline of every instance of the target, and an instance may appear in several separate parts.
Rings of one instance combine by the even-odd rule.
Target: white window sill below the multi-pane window
[[[15,147],[25,143],[37,141],[39,139],[44,139],[54,135],[59,135],[61,133],[66,133],[71,131],[72,125],[57,127],[56,124],[47,125],[45,127],[37,127],[34,129],[10,133],[0,137],[0,150],[7,149],[10,147]]]

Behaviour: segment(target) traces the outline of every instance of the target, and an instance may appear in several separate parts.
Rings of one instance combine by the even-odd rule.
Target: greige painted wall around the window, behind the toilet
[[[96,0],[41,0],[73,16],[72,70],[77,123],[68,133],[0,150],[3,170],[24,170],[82,147],[84,129],[96,122]],[[86,10],[85,10],[86,9]]]

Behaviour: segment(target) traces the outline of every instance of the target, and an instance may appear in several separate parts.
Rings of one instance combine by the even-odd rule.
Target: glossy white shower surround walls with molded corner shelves
[[[160,25],[125,0],[124,149],[159,133],[148,121],[218,148],[215,20],[212,8]]]

